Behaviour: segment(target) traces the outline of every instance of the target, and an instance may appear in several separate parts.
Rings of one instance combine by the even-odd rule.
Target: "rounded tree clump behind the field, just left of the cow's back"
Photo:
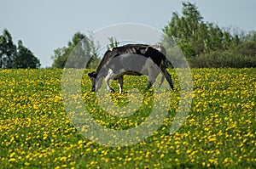
[[[54,60],[52,67],[96,67],[99,62],[97,51],[98,47],[95,45],[92,36],[86,37],[84,34],[77,32],[73,35],[72,41],[67,42],[67,47],[55,49],[54,55],[51,57]]]

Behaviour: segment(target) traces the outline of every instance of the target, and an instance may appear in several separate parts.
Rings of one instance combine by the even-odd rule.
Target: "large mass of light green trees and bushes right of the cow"
[[[172,14],[163,29],[193,67],[254,67],[256,33],[243,36],[203,21],[195,3],[183,3],[182,15]]]

